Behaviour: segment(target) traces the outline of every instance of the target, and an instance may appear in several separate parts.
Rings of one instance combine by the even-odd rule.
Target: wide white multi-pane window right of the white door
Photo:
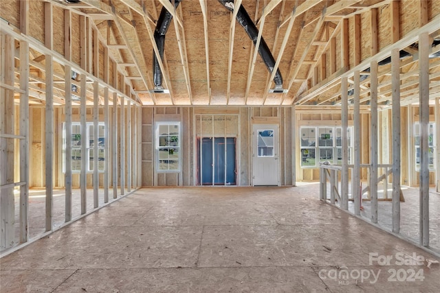
[[[349,127],[347,132],[349,163],[351,163],[353,128]],[[342,127],[301,127],[300,152],[301,167],[318,167],[322,162],[342,164]]]

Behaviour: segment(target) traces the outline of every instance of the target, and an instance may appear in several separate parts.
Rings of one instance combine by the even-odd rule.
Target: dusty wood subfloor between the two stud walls
[[[1,258],[0,291],[440,292],[433,261],[316,185],[150,188]]]

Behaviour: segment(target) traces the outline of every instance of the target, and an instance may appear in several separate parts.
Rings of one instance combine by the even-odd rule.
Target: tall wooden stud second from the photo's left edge
[[[20,242],[29,237],[29,44],[20,41]]]

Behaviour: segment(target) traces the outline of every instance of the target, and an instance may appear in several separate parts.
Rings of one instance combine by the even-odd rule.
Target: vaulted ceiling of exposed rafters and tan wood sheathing
[[[393,43],[401,37],[432,19],[439,19],[440,14],[433,1],[427,2],[426,8],[420,4],[424,1],[408,0],[176,1],[52,0],[52,3],[87,16],[90,32],[98,34],[93,38],[104,44],[99,46],[99,54],[103,54],[104,47],[108,49],[118,71],[124,75],[124,82],[144,105],[339,104],[340,76],[344,72],[359,67],[364,60],[387,48],[394,48]],[[237,21],[236,15],[241,16],[243,9],[252,23]],[[158,22],[167,24],[167,19],[159,19],[162,10],[173,16],[164,29],[163,48],[157,46],[154,36]],[[420,16],[428,12],[431,19],[423,23]],[[252,25],[258,29],[253,40],[247,33],[252,31]],[[393,36],[396,27],[397,37]],[[72,42],[79,43],[76,33],[83,32],[72,30]],[[439,29],[430,34],[431,97],[440,93],[439,36]],[[262,58],[255,47],[263,46],[263,42],[268,50]],[[163,58],[159,57],[161,49]],[[418,97],[417,41],[408,39],[398,49],[401,50],[401,97],[410,104]],[[386,62],[389,54],[391,49],[381,55],[383,60],[377,60],[382,62],[378,94],[384,104],[391,101],[391,65]],[[153,69],[153,56],[159,60],[156,69]],[[38,54],[32,58],[33,62],[41,62],[37,60]],[[367,104],[369,65],[358,70],[361,102]],[[162,73],[159,87],[164,90],[160,93],[153,91],[158,87],[157,73]],[[274,82],[274,78],[278,81]],[[349,77],[349,84],[353,84],[353,77]],[[272,93],[272,89],[278,93]]]

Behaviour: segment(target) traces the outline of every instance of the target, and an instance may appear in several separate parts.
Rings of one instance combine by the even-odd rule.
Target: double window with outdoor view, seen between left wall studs
[[[66,131],[65,124],[63,124],[63,172],[65,172],[65,140]],[[98,125],[98,138],[94,138],[94,124],[93,122],[87,123],[87,134],[86,138],[83,140],[81,138],[81,125],[78,122],[72,123],[72,172],[79,173],[81,171],[81,143],[85,141],[87,143],[87,151],[85,156],[87,156],[86,172],[94,171],[94,145],[98,141],[98,172],[104,172],[104,148],[105,148],[105,138],[104,138],[104,123]]]

